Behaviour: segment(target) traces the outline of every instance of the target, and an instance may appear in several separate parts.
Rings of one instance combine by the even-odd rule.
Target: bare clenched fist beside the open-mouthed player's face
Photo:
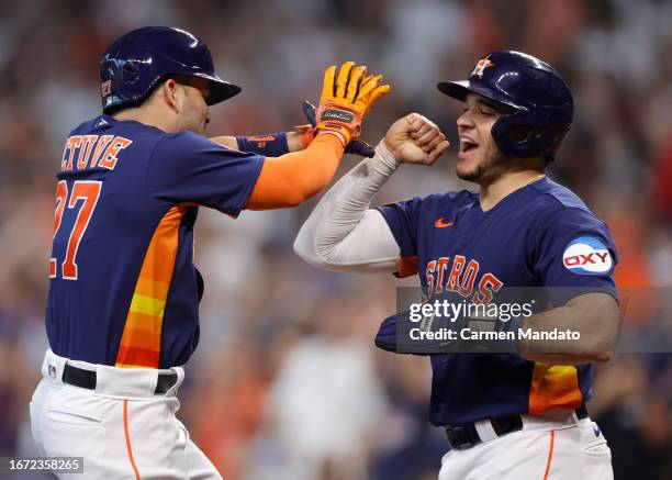
[[[400,161],[422,165],[434,164],[450,145],[439,127],[419,113],[394,122],[384,142]]]

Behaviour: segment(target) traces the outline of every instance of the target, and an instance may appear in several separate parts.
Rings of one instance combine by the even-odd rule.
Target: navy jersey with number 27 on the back
[[[57,175],[53,351],[117,367],[183,365],[199,342],[198,206],[238,215],[262,164],[191,132],[104,114],[75,129]]]

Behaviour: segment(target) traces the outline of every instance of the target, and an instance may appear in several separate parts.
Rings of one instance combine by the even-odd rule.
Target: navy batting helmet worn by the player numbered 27
[[[143,100],[169,75],[192,75],[209,80],[209,105],[226,100],[240,87],[214,72],[212,56],[201,40],[169,26],[145,26],[121,36],[100,62],[103,112]]]

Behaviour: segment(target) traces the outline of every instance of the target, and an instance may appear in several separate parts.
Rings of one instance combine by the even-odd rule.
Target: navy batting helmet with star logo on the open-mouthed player
[[[511,157],[544,155],[553,159],[574,113],[572,92],[553,67],[513,51],[479,59],[468,80],[446,81],[438,89],[464,101],[469,92],[508,105],[492,126],[497,147]]]

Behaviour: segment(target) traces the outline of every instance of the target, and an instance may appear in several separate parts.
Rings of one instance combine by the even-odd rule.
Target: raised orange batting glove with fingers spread
[[[346,62],[337,70],[332,65],[324,72],[317,108],[316,131],[336,135],[344,146],[361,135],[361,122],[373,103],[390,91],[382,75],[366,75],[367,67]]]

